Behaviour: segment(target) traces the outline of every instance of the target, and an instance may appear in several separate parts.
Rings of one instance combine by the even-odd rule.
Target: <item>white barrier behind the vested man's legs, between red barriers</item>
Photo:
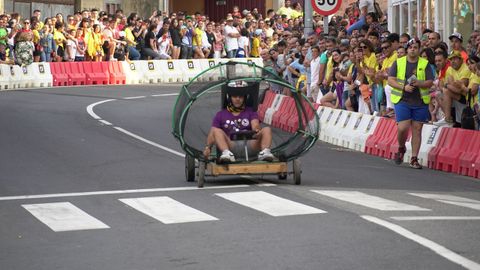
[[[422,144],[420,146],[420,151],[418,152],[418,162],[422,164],[422,166],[428,166],[428,153],[435,147],[438,143],[438,139],[440,137],[440,133],[443,127],[437,127],[434,125],[423,125],[422,128]],[[411,145],[410,138],[406,143],[405,147],[407,148],[407,152],[405,152],[403,161],[409,163],[410,158],[412,157],[412,145]]]

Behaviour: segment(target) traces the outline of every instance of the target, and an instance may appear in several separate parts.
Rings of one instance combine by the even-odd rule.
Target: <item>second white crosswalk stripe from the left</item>
[[[170,197],[119,199],[119,201],[165,224],[218,220]]]

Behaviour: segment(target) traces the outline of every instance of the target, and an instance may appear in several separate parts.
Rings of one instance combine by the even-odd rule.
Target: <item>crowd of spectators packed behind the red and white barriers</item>
[[[264,66],[302,91],[313,102],[349,111],[394,117],[388,77],[396,60],[418,49],[428,60],[431,121],[459,125],[465,107],[479,111],[480,31],[442,39],[425,29],[421,37],[390,33],[386,16],[373,0],[352,3],[328,27],[313,15],[304,34],[303,7],[286,0],[279,10],[260,14],[234,7],[220,21],[199,12],[154,11],[149,18],[122,10],[107,14],[83,10],[43,18],[0,15],[0,61],[124,61],[261,57]],[[324,31],[328,28],[328,32]],[[411,46],[418,44],[418,46]],[[272,85],[277,93],[287,89]],[[478,113],[477,113],[478,115]],[[478,117],[476,118],[478,121]],[[476,125],[478,128],[478,124]]]

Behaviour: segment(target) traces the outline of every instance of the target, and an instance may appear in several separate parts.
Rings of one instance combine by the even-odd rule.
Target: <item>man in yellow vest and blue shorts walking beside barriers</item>
[[[433,69],[428,60],[419,57],[420,40],[411,39],[406,44],[407,55],[397,59],[389,71],[388,84],[392,87],[390,99],[394,104],[395,118],[398,124],[399,150],[395,154],[395,163],[400,165],[405,154],[405,142],[412,128],[412,158],[410,167],[421,169],[418,152],[422,143],[422,127],[428,122],[430,113],[429,89],[433,85]]]

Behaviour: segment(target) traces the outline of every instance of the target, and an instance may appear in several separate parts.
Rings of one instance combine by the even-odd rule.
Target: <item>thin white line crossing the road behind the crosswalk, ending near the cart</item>
[[[204,188],[198,188],[198,187],[170,187],[170,188],[106,190],[106,191],[90,191],[90,192],[74,192],[74,193],[6,196],[6,197],[0,197],[0,201],[31,200],[31,199],[60,198],[60,197],[82,197],[82,196],[129,194],[129,193],[147,193],[147,192],[168,192],[168,191],[190,191],[190,190],[207,190],[207,189],[248,188],[248,187],[251,187],[251,185],[212,186],[212,187],[204,187]]]

